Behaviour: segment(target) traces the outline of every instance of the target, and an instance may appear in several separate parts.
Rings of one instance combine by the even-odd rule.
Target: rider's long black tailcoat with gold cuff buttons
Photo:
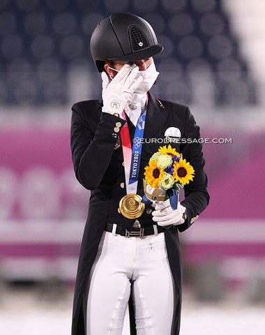
[[[117,223],[130,230],[134,222],[134,220],[124,218],[118,211],[119,201],[126,195],[126,187],[121,186],[122,183],[125,184],[123,152],[122,147],[119,147],[119,132],[116,133],[114,128],[117,127],[117,122],[121,123],[118,128],[122,128],[125,121],[114,115],[103,113],[101,108],[102,101],[83,101],[76,103],[72,108],[71,150],[74,170],[82,186],[91,190],[89,214],[84,228],[75,283],[72,335],[86,333],[87,281],[106,223]],[[135,127],[130,120],[128,120],[128,126],[132,137]],[[169,101],[159,101],[149,94],[144,128],[145,142],[142,147],[137,187],[137,194],[141,196],[144,195],[142,183],[144,167],[160,146],[168,144],[162,141],[165,140],[165,131],[169,127],[179,128],[182,139],[199,139],[199,127],[188,107]],[[205,209],[209,203],[209,194],[204,173],[202,144],[194,142],[192,144],[170,144],[176,148],[176,151],[182,153],[183,158],[186,158],[195,169],[194,181],[185,186],[185,200],[181,202],[188,210],[188,218],[182,225],[165,231],[169,265],[176,290],[176,313],[172,334],[177,335],[181,315],[182,281],[179,231],[182,232],[190,227],[195,217]],[[144,211],[139,222],[142,226],[153,224],[151,214]],[[130,308],[131,311],[132,308]],[[131,334],[136,334],[132,316],[130,313]]]

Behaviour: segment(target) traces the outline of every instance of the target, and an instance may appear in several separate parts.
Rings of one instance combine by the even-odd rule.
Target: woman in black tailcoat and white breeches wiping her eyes
[[[202,145],[172,143],[195,169],[185,200],[144,207],[144,168],[169,128],[199,138],[188,107],[149,94],[162,51],[151,26],[129,13],[98,24],[91,54],[102,73],[103,101],[73,105],[71,149],[78,181],[91,190],[73,308],[72,335],[121,334],[126,307],[131,334],[179,334],[181,246],[209,202]],[[178,135],[179,136],[179,135]],[[139,181],[139,182],[138,182]],[[168,225],[172,227],[166,229]]]

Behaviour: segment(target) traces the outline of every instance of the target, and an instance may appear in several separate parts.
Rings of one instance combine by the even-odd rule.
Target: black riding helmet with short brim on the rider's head
[[[130,13],[114,13],[101,21],[93,31],[90,48],[99,72],[107,59],[136,61],[163,50],[151,25]]]

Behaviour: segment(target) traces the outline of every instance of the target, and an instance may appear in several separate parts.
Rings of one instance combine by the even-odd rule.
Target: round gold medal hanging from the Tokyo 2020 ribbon
[[[141,201],[142,198],[135,193],[124,195],[119,203],[121,214],[126,218],[139,218],[143,214],[145,207]]]

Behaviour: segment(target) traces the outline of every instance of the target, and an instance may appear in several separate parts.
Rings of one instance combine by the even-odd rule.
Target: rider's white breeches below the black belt
[[[174,282],[165,234],[103,232],[89,277],[86,335],[122,334],[131,283],[137,335],[172,334]]]

